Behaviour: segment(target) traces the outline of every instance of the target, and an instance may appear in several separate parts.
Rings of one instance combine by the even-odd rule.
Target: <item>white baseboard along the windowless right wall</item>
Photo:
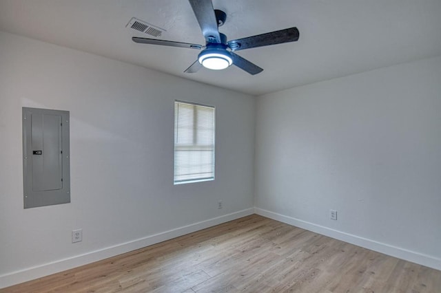
[[[356,246],[361,246],[363,248],[374,250],[376,252],[381,252],[390,255],[391,257],[397,257],[398,259],[404,259],[406,261],[411,261],[413,263],[425,265],[429,268],[441,270],[441,259],[438,259],[437,257],[432,257],[430,255],[422,254],[420,252],[414,252],[404,248],[391,246],[386,243],[381,243],[371,239],[359,237],[357,235],[341,232],[338,230],[327,228],[325,226],[320,226],[314,223],[310,223],[308,221],[302,221],[301,219],[296,219],[294,217],[280,215],[278,213],[274,213],[269,210],[263,210],[262,208],[254,208],[254,213],[256,213],[257,215],[261,215],[263,217],[275,219],[276,221],[281,221],[285,224],[289,224],[334,239],[345,241],[347,243],[351,243]]]

